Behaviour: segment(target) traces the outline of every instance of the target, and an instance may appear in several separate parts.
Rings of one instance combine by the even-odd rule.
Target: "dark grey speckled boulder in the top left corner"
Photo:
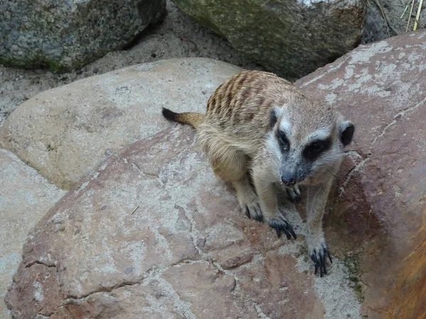
[[[164,10],[164,0],[1,1],[0,63],[76,69],[131,43]]]

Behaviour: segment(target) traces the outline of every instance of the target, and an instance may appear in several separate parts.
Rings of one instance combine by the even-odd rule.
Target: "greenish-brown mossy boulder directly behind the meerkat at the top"
[[[173,0],[267,69],[300,78],[358,45],[366,1]]]

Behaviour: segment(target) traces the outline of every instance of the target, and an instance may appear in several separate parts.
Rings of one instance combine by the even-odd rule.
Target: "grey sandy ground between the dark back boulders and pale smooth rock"
[[[133,46],[109,52],[75,72],[54,74],[45,69],[0,65],[0,126],[18,105],[42,91],[129,65],[176,57],[209,57],[249,69],[258,68],[234,50],[226,39],[185,16],[173,2],[166,0],[166,4],[164,20],[148,26]]]

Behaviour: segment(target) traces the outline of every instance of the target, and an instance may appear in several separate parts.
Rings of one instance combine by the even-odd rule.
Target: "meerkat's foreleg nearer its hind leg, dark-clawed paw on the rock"
[[[261,169],[253,169],[253,182],[256,192],[261,200],[263,220],[275,229],[277,236],[281,237],[281,232],[285,233],[287,239],[293,236],[296,239],[293,226],[288,223],[283,214],[278,210],[277,198],[273,189],[273,182],[268,181],[261,173]]]

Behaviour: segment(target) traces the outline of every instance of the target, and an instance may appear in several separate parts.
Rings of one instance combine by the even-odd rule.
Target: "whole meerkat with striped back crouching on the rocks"
[[[308,254],[315,274],[327,274],[332,262],[324,240],[322,216],[334,175],[354,134],[354,124],[320,101],[269,72],[242,71],[210,96],[207,113],[175,113],[163,108],[170,121],[191,125],[197,144],[214,174],[231,183],[241,210],[268,223],[280,237],[296,239],[293,226],[278,210],[275,185],[300,201],[307,190]]]

